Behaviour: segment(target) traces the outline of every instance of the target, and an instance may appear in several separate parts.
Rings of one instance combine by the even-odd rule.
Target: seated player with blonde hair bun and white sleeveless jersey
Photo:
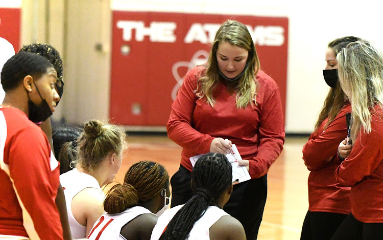
[[[74,238],[85,238],[103,214],[105,194],[100,186],[111,181],[121,167],[126,148],[125,130],[90,120],[77,140],[76,166],[60,176],[69,225]]]

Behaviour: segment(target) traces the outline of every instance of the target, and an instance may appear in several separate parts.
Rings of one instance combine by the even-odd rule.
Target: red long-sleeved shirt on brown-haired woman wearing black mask
[[[340,165],[338,146],[347,137],[346,113],[351,105],[345,105],[323,131],[326,118],[303,146],[303,160],[310,170],[308,176],[308,210],[349,214],[350,188],[341,186],[334,171]],[[331,161],[327,161],[332,158]]]

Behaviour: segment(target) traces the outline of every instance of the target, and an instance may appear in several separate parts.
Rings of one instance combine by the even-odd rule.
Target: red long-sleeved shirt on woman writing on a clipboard
[[[190,70],[172,104],[167,122],[167,134],[183,147],[181,164],[192,171],[189,158],[206,154],[216,137],[229,139],[236,145],[242,159],[250,160],[250,176],[264,176],[278,158],[284,143],[284,122],[278,85],[262,71],[256,79],[259,87],[257,105],[249,104],[238,109],[236,94],[230,94],[222,82],[217,85],[211,107],[205,99],[196,96],[195,90],[204,66]]]

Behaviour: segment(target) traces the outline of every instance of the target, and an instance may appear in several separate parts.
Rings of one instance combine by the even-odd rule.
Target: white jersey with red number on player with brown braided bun
[[[152,213],[144,207],[132,207],[128,208],[121,213],[108,214],[104,213],[99,220],[97,220],[92,230],[89,233],[88,238],[91,240],[119,240],[124,239],[119,236],[121,228],[127,223],[135,219],[137,216],[144,213]],[[154,214],[154,213],[152,213]]]

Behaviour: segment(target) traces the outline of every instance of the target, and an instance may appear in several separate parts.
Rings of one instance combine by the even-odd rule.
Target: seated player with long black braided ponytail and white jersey
[[[166,210],[151,239],[246,239],[242,224],[222,210],[233,190],[231,181],[231,164],[223,154],[200,157],[192,172],[193,197]]]

